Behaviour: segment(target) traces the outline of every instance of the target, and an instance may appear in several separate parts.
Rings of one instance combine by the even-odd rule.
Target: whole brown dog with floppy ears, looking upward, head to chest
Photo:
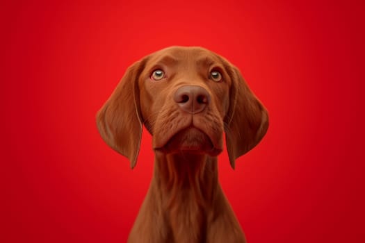
[[[154,176],[128,242],[245,242],[218,182],[229,161],[256,146],[268,113],[236,67],[200,47],[170,47],[134,63],[97,114],[99,133],[136,165],[142,124]]]

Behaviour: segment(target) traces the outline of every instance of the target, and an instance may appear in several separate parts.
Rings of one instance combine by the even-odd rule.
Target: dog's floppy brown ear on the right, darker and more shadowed
[[[245,83],[239,70],[231,65],[232,79],[229,111],[225,117],[226,144],[229,162],[235,167],[236,158],[250,151],[268,130],[268,112]]]

